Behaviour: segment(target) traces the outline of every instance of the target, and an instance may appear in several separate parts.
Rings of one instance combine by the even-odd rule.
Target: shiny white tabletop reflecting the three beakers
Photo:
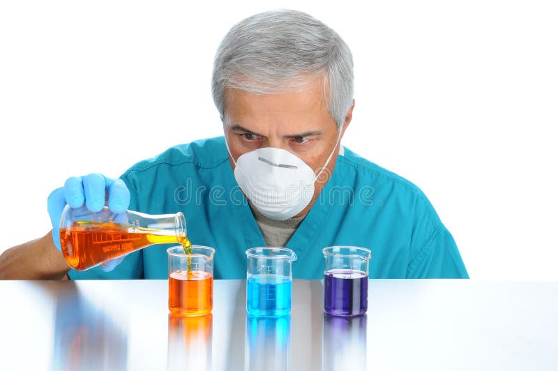
[[[246,316],[246,281],[213,313],[169,317],[166,280],[1,281],[0,370],[558,370],[558,282],[370,280],[368,314]]]

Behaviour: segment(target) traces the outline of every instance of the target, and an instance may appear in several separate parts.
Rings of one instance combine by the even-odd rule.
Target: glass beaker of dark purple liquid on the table
[[[331,246],[322,250],[324,270],[324,310],[332,316],[363,315],[368,309],[367,248]]]

